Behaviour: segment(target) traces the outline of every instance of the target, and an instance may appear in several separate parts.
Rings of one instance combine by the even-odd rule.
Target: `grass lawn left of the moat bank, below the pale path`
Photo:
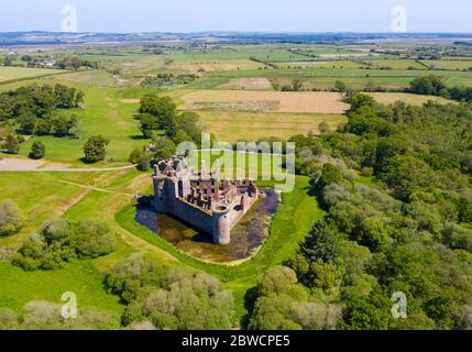
[[[145,178],[151,179],[150,175],[145,175]],[[63,184],[61,179],[75,184]],[[128,257],[136,250],[146,249],[139,241],[132,242],[123,234],[123,230],[113,228],[112,221],[108,221],[113,219],[113,207],[118,207],[114,208],[118,211],[131,202],[131,197],[90,190],[85,186],[132,194],[147,189],[150,183],[136,170],[125,170],[118,174],[0,173],[0,200],[13,198],[28,219],[25,229],[20,234],[0,239],[0,246],[18,248],[21,241],[37,231],[46,219],[56,217],[103,220],[109,222],[118,237],[117,250],[113,253],[94,261],[66,264],[64,270],[59,271],[30,273],[10,263],[0,263],[0,308],[21,310],[32,300],[61,302],[63,293],[74,292],[78,297],[79,309],[91,307],[111,311],[117,318],[118,328],[123,306],[116,296],[105,292],[105,273],[117,261]]]

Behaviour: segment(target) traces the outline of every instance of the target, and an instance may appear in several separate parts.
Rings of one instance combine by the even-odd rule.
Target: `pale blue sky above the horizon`
[[[0,31],[61,31],[68,4],[80,32],[389,32],[404,6],[408,32],[472,33],[470,0],[15,0]]]

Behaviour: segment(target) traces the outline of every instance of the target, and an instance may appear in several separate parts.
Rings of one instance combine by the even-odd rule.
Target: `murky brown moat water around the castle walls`
[[[264,189],[265,198],[257,200],[231,230],[231,243],[217,245],[210,234],[150,207],[139,207],[135,221],[162,237],[175,248],[200,260],[229,263],[253,256],[264,244],[272,217],[281,204],[279,196]]]

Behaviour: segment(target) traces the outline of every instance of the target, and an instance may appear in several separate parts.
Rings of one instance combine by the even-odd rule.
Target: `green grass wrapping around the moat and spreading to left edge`
[[[138,189],[149,187],[149,183],[138,183],[138,185],[134,183],[134,186],[129,188],[130,183],[133,184],[132,180],[139,175],[135,172],[123,172],[113,177],[110,174],[92,174],[95,176],[91,179],[90,176],[84,178],[85,176],[80,175],[65,174],[61,178],[120,193],[132,193],[136,189],[134,187]],[[30,209],[41,210],[41,217],[32,216],[30,219],[32,223],[32,227],[29,227],[30,232],[23,231],[22,235],[3,239],[0,246],[18,246],[17,240],[24,239],[28,233],[39,229],[45,219],[57,216],[56,210],[61,201],[67,202],[67,199],[74,197],[74,194],[84,191],[81,187],[75,185],[62,186],[57,183],[58,179],[54,179],[57,176],[50,174],[24,174],[24,180],[19,183],[12,182],[11,178],[15,177],[14,174],[3,174],[0,177],[2,177],[0,182],[6,185],[4,189],[8,191],[2,195],[0,200],[12,195],[25,213],[34,213]],[[226,287],[233,290],[238,311],[242,317],[245,314],[243,305],[245,290],[254,286],[264,268],[281,264],[290,257],[312,223],[323,216],[316,198],[310,196],[308,182],[307,177],[297,177],[296,189],[283,196],[283,202],[271,224],[271,234],[264,248],[253,260],[237,266],[207,264],[178,252],[150,230],[134,222],[134,208],[131,206],[130,198],[120,194],[90,190],[76,204],[69,205],[70,207],[63,206],[63,216],[72,220],[100,219],[107,221],[119,235],[118,250],[99,260],[67,264],[64,270],[54,272],[25,273],[11,264],[0,264],[0,307],[21,309],[31,300],[58,301],[62,293],[72,290],[78,295],[79,299],[84,297],[84,306],[120,312],[122,307],[117,304],[116,297],[110,298],[103,292],[100,285],[101,279],[103,273],[117,261],[141,250],[151,253],[161,262],[172,261],[173,265],[204,270],[218,276]],[[30,189],[28,188],[29,183],[31,183]],[[58,186],[59,188],[57,188]],[[24,190],[19,191],[19,189]],[[45,194],[54,194],[54,200],[46,197]],[[36,204],[41,200],[44,204]],[[118,213],[116,219],[114,213]],[[12,280],[14,285],[11,284]],[[33,287],[35,288],[33,289]]]

